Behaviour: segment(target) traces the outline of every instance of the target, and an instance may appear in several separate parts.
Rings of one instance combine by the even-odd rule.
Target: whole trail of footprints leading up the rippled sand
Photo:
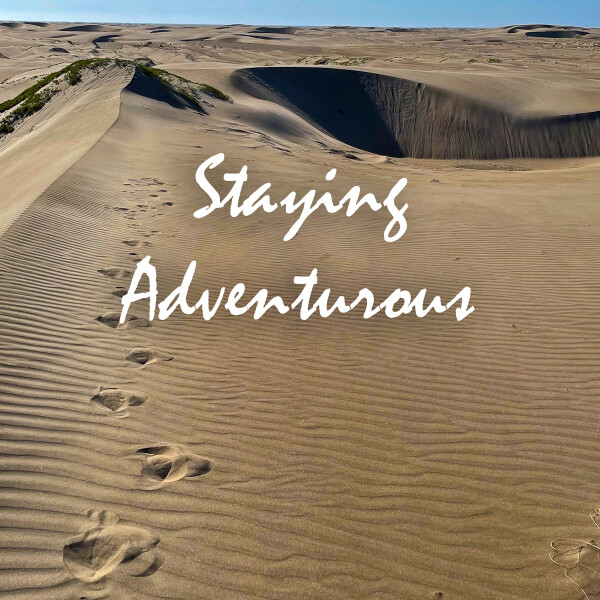
[[[137,237],[124,240],[123,244],[129,250],[129,258],[138,262],[143,258],[138,252],[145,252],[152,246],[148,238],[160,232],[156,229],[148,231],[136,223],[136,219],[140,215],[144,218],[161,216],[160,211],[173,206],[173,202],[163,201],[164,194],[168,193],[166,184],[154,178],[129,179],[124,187],[125,194],[134,196],[134,205],[118,206],[115,210],[132,221],[129,227]],[[139,201],[140,193],[147,201]],[[124,283],[133,275],[130,269],[122,267],[108,267],[98,272],[115,282],[124,280]],[[122,298],[127,289],[126,285],[117,285],[113,295]],[[147,319],[134,315],[128,315],[124,323],[119,323],[120,316],[120,312],[106,312],[96,317],[96,322],[111,329],[151,326]],[[172,359],[167,352],[145,346],[133,347],[125,356],[125,360],[139,368]],[[139,390],[100,386],[90,401],[99,409],[123,418],[129,415],[131,408],[145,404],[148,396]],[[141,487],[145,490],[160,489],[181,479],[194,479],[212,469],[210,460],[180,444],[159,443],[142,447],[135,456],[141,459]],[[157,548],[160,538],[156,534],[143,527],[123,525],[110,511],[89,511],[87,517],[89,525],[63,547],[63,561],[75,579],[91,586],[89,598],[105,597],[107,578],[117,568],[132,577],[147,577],[160,568],[164,559]]]

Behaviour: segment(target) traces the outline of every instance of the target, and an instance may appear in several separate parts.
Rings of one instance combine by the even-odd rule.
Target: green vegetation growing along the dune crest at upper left
[[[195,83],[180,75],[175,75],[174,73],[169,73],[168,71],[157,69],[156,67],[146,66],[141,62],[124,60],[121,58],[88,58],[77,60],[62,68],[60,71],[45,75],[32,86],[23,90],[19,95],[0,103],[0,114],[14,109],[10,114],[0,120],[0,135],[11,133],[14,131],[15,125],[19,121],[42,109],[57,91],[56,88],[51,89],[48,88],[48,86],[53,82],[57,83],[61,76],[64,75],[64,80],[69,85],[77,85],[81,81],[84,70],[96,69],[109,64],[116,64],[121,67],[136,67],[147,77],[156,79],[161,85],[172,89],[201,112],[205,111],[201,105],[201,98],[195,94],[196,91],[202,92],[212,98],[231,102],[231,98],[227,94],[211,85]],[[181,85],[182,83],[185,84],[185,86]]]

